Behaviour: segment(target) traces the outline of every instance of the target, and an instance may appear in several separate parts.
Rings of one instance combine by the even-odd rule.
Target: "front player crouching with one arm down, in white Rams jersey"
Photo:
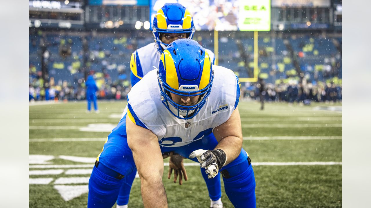
[[[196,41],[175,40],[162,52],[158,70],[129,92],[123,117],[93,167],[88,207],[111,208],[135,170],[144,207],[168,207],[162,152],[200,162],[210,179],[221,172],[233,206],[256,207],[255,176],[242,148],[239,98],[240,84],[231,70],[212,65]]]

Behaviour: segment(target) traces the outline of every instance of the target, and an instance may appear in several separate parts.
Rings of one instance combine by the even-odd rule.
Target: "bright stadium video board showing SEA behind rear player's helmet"
[[[270,30],[270,0],[151,0],[151,22],[156,11],[169,2],[178,2],[191,12],[196,30]]]

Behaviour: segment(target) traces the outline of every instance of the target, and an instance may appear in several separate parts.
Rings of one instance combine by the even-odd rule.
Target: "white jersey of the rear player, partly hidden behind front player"
[[[157,43],[150,43],[147,46],[141,47],[132,53],[130,61],[130,69],[134,76],[141,79],[148,72],[154,70],[154,67],[158,67],[161,53],[157,50]],[[214,64],[215,56],[212,51],[205,49],[209,54],[212,64]]]

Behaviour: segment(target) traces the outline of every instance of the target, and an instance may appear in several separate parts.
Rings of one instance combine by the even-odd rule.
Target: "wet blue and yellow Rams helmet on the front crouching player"
[[[214,78],[205,48],[187,38],[173,41],[161,54],[157,74],[161,100],[170,113],[185,120],[197,115],[210,95]],[[200,97],[196,104],[187,106],[175,103],[170,92],[182,97]]]

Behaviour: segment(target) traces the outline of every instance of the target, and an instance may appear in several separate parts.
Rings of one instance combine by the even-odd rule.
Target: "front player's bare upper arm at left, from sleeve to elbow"
[[[150,130],[133,123],[126,117],[128,145],[141,178],[162,177],[164,163],[157,136]]]

